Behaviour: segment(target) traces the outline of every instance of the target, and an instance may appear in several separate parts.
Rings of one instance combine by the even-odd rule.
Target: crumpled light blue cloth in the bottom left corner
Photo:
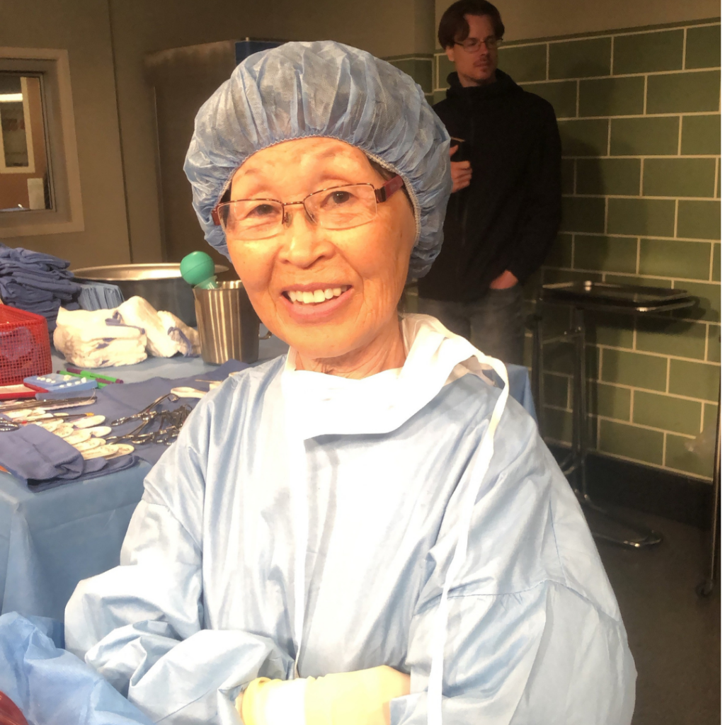
[[[57,646],[57,623],[31,619],[0,616],[0,691],[29,723],[152,724],[93,668]]]

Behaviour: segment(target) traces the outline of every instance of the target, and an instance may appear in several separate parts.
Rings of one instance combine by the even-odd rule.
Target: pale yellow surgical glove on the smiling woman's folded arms
[[[236,699],[244,725],[283,725],[271,713],[283,713],[302,694],[300,687],[305,688],[305,725],[389,725],[390,700],[410,695],[410,676],[383,665],[318,679],[260,677]]]

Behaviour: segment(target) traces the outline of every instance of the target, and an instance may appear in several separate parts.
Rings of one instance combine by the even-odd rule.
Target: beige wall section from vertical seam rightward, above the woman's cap
[[[162,257],[153,96],[144,78],[145,54],[246,36],[329,38],[378,56],[432,51],[433,9],[434,0],[111,0],[133,260]],[[203,245],[199,231],[199,247]]]

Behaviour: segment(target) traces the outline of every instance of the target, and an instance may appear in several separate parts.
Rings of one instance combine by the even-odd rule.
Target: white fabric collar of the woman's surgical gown
[[[404,315],[401,326],[405,365],[361,380],[296,370],[297,351],[289,349],[282,389],[297,435],[389,433],[467,373],[492,382],[482,374],[492,369],[489,357],[436,318]]]

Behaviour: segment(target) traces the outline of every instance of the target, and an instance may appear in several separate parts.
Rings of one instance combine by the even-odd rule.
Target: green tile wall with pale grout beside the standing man
[[[711,462],[687,444],[713,425],[721,359],[720,30],[693,21],[500,49],[502,70],[552,104],[563,149],[560,234],[527,299],[541,281],[585,280],[699,298],[636,323],[587,315],[592,446],[701,479]],[[433,68],[439,100],[453,67],[437,51]],[[547,313],[547,334],[568,324],[566,308]],[[542,431],[565,443],[572,364],[571,344],[547,346]]]

